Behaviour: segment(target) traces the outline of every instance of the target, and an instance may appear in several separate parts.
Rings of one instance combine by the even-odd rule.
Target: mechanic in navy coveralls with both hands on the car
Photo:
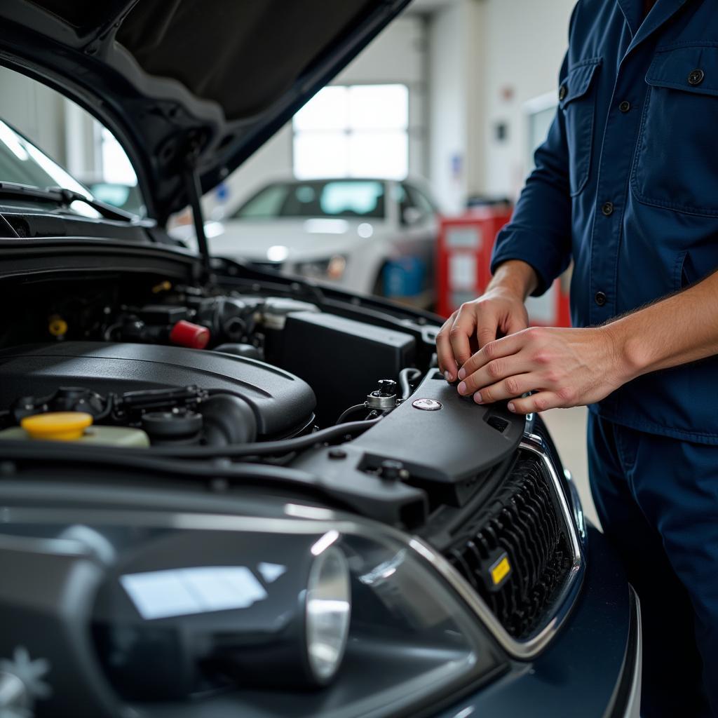
[[[559,80],[493,280],[442,327],[439,366],[477,404],[590,405],[592,494],[641,599],[642,714],[718,716],[714,0],[579,0]],[[579,328],[527,329],[524,300],[571,258]]]

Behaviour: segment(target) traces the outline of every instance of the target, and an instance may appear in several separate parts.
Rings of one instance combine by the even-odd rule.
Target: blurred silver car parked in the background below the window
[[[284,179],[269,182],[207,223],[215,256],[351,292],[434,302],[436,202],[421,180]],[[172,235],[194,241],[192,226]]]

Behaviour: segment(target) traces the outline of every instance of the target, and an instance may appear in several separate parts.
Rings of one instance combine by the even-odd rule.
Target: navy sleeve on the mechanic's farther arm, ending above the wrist
[[[559,85],[568,74],[564,57]],[[521,259],[533,267],[538,297],[567,266],[571,258],[571,193],[569,151],[563,112],[556,116],[544,144],[533,156],[531,172],[516,202],[510,223],[498,233],[491,256],[491,273],[508,259]]]

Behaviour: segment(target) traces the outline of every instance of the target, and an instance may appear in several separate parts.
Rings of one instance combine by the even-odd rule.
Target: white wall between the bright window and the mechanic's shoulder
[[[447,210],[470,195],[518,195],[529,157],[524,103],[557,91],[574,1],[454,0],[432,14],[429,177]]]

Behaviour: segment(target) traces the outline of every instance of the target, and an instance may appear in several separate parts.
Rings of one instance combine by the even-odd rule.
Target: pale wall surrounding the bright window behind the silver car
[[[409,86],[409,172],[426,174],[426,52],[424,21],[401,17],[386,28],[361,55],[337,75],[333,84],[403,83]],[[266,180],[292,174],[292,126],[284,126],[228,178],[228,203],[236,205]],[[210,193],[211,213],[218,198]]]

